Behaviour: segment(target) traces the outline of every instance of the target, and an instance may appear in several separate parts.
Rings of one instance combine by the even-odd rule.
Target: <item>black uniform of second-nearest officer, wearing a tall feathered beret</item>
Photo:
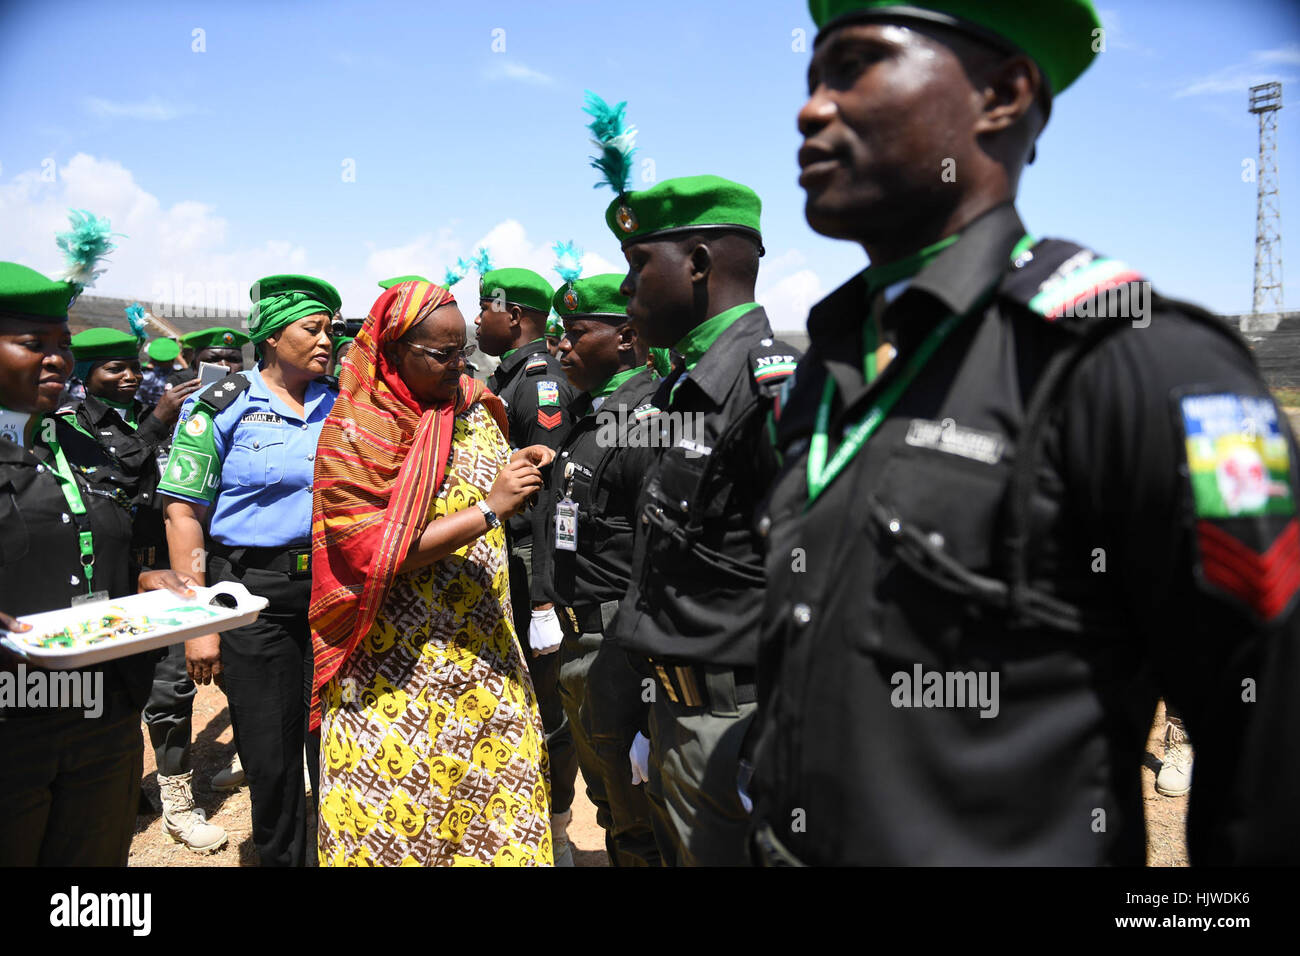
[[[647,796],[670,866],[748,860],[736,787],[755,710],[764,587],[753,519],[775,473],[758,455],[788,375],[764,369],[790,368],[797,356],[755,307],[653,399],[670,414],[675,444],[660,450],[638,498],[630,585],[612,635],[662,684],[649,709]]]

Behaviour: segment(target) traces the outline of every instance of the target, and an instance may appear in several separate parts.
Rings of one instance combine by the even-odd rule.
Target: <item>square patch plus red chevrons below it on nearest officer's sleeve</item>
[[[1271,399],[1184,395],[1179,412],[1205,584],[1271,620],[1300,589],[1291,449]]]

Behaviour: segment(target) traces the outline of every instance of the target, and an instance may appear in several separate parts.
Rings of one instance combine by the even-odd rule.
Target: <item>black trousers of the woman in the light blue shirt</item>
[[[239,581],[270,602],[247,627],[222,631],[222,687],[248,779],[257,857],[263,866],[304,866],[307,853],[316,851],[315,795],[320,783],[320,735],[307,732],[313,663],[307,624],[311,578],[240,568],[213,555],[208,579],[213,584]],[[312,801],[303,792],[304,744]],[[309,844],[304,832],[308,814]]]

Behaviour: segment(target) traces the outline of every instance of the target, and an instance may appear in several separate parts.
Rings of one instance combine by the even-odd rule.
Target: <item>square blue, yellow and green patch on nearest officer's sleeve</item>
[[[1291,450],[1273,399],[1186,395],[1179,408],[1199,518],[1295,514]]]

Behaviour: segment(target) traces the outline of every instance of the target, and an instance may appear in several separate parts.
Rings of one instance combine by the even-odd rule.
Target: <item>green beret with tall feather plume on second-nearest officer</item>
[[[684,176],[619,196],[604,221],[624,246],[671,233],[737,229],[762,242],[763,202],[749,186],[720,176]]]

